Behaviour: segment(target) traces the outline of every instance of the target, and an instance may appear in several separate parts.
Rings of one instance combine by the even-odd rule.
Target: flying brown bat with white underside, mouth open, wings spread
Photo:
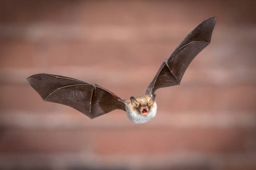
[[[27,80],[44,101],[68,105],[91,119],[120,109],[131,121],[145,123],[156,115],[155,91],[180,84],[190,62],[210,44],[215,22],[215,17],[208,18],[192,30],[164,60],[146,94],[140,97],[125,100],[97,84],[60,75],[35,74]]]

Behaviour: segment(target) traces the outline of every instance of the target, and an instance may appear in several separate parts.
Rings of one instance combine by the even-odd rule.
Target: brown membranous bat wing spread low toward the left
[[[115,109],[125,111],[125,100],[113,92],[69,77],[36,74],[27,78],[44,101],[68,105],[95,118]]]

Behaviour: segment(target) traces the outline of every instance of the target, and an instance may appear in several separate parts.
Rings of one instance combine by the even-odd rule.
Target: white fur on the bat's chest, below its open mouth
[[[136,112],[134,112],[129,106],[125,105],[125,109],[126,109],[126,115],[127,117],[135,122],[135,123],[146,123],[148,122],[151,118],[155,117],[156,115],[156,101],[154,102],[154,107],[152,107],[152,109],[150,110],[150,112],[148,112],[148,115],[144,116],[141,114],[138,114]]]

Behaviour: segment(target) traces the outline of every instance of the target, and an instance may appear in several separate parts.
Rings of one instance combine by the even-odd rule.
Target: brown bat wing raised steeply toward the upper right
[[[152,95],[161,87],[179,85],[190,62],[210,44],[216,18],[211,17],[200,23],[162,63],[153,81],[148,86],[147,95]]]

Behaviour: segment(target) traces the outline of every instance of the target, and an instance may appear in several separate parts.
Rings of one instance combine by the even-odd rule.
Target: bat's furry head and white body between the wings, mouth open
[[[155,97],[156,95],[145,95],[127,100],[125,108],[128,118],[135,123],[148,122],[156,115]]]

